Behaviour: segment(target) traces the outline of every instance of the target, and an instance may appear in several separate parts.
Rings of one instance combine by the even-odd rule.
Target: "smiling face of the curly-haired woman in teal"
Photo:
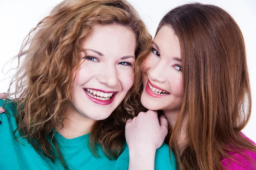
[[[133,84],[136,38],[119,25],[94,26],[76,74],[69,108],[93,120],[106,119]]]

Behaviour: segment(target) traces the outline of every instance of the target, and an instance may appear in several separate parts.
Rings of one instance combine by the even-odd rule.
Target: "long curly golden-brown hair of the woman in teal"
[[[80,52],[84,51],[81,43],[96,24],[119,24],[131,29],[137,39],[135,57],[150,48],[151,36],[127,1],[64,0],[25,38],[17,55],[18,71],[8,91],[18,104],[14,134],[18,131],[42,156],[52,161],[60,158],[65,169],[68,167],[56,142],[54,127],[63,123],[63,113],[71,101],[73,73],[79,67]],[[97,154],[96,145],[103,148],[109,159],[116,159],[122,152],[125,121],[135,113],[129,96],[130,92],[110,117],[91,127],[93,153]]]

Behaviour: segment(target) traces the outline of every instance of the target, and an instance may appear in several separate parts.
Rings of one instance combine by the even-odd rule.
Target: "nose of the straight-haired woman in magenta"
[[[166,64],[164,64],[162,61],[157,62],[155,65],[149,68],[148,77],[155,82],[166,82],[165,67]]]

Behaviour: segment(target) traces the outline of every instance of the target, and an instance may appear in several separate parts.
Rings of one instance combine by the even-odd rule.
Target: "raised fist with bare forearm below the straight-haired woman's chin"
[[[140,112],[125,125],[125,138],[129,148],[129,170],[154,170],[154,158],[167,135],[168,122],[164,116],[158,120],[156,111]]]

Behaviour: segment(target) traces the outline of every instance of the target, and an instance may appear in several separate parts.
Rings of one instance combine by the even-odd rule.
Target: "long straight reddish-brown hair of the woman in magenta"
[[[175,31],[182,59],[184,97],[169,136],[179,169],[221,170],[221,159],[230,158],[228,152],[256,152],[240,132],[250,118],[251,93],[239,26],[223,9],[200,3],[172,9],[160,21],[157,33],[163,26]],[[142,88],[138,67],[145,57],[137,59],[137,91]],[[187,143],[179,148],[186,117]]]

